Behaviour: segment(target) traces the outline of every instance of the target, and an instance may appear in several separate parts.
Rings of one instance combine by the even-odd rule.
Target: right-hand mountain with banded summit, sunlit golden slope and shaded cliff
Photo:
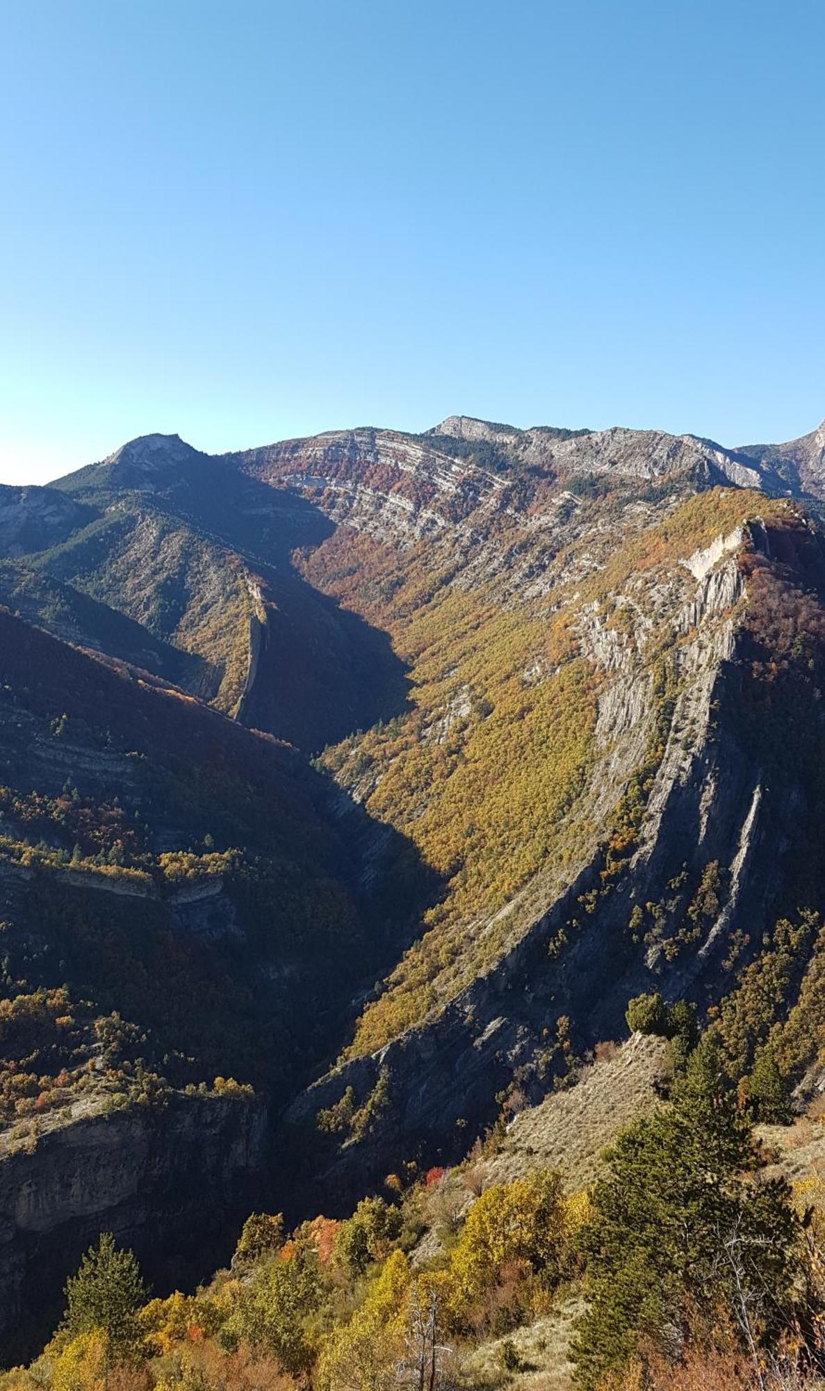
[[[801,611],[821,558],[775,501],[803,480],[693,437],[564,434],[453,417],[242,460],[339,523],[304,573],[410,664],[412,709],[324,761],[446,887],[368,1006],[358,1060],[293,1107],[299,1143],[321,1114],[343,1146],[325,1182],[371,1145],[378,1174],[399,1134],[454,1155],[497,1089],[546,1085],[560,1027],[578,1047],[615,1035],[654,985],[710,1003],[740,938],[821,893],[800,815],[818,796],[817,691],[778,766],[774,730],[767,750],[757,733],[776,693],[750,662],[782,604],[818,650],[818,606]],[[736,491],[707,491],[722,483]]]

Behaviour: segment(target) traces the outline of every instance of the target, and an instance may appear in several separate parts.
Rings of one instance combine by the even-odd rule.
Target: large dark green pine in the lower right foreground
[[[760,1160],[707,1036],[672,1106],[628,1127],[593,1192],[585,1237],[590,1308],[574,1349],[588,1391],[644,1342],[676,1360],[719,1317],[746,1351],[792,1317],[797,1221],[783,1180]]]

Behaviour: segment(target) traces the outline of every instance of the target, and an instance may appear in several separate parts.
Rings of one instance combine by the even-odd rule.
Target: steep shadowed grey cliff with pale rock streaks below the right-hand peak
[[[758,933],[788,885],[786,858],[804,807],[801,771],[788,758],[767,772],[747,740],[750,698],[743,554],[769,551],[757,520],[721,534],[685,563],[674,629],[674,691],[664,748],[651,779],[632,860],[604,883],[611,807],[650,746],[660,716],[635,643],[582,615],[581,637],[603,673],[599,757],[578,814],[593,835],[567,882],[539,876],[510,906],[521,928],[504,954],[422,1024],[379,1052],[343,1063],[286,1114],[286,1153],[312,1150],[318,1168],[306,1200],[333,1193],[342,1207],[379,1182],[404,1155],[453,1161],[497,1111],[515,1079],[536,1100],[564,1071],[557,1040],[568,1021],[574,1052],[621,1036],[629,997],[661,990],[712,1003],[732,979],[731,933]],[[688,579],[688,574],[690,579]],[[672,601],[674,595],[669,595]],[[642,643],[643,645],[643,643]],[[718,868],[718,901],[690,915],[703,871]],[[532,918],[529,917],[532,911]],[[632,931],[633,915],[644,925]],[[689,931],[679,931],[679,925]],[[485,924],[478,932],[483,935]],[[318,1135],[318,1113],[351,1088],[353,1106],[375,1106],[358,1134]]]

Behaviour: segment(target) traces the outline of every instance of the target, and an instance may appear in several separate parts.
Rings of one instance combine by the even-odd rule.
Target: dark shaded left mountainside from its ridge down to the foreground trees
[[[399,938],[388,833],[289,746],[6,609],[0,744],[0,1292],[31,1351],[101,1221],[203,1273]]]

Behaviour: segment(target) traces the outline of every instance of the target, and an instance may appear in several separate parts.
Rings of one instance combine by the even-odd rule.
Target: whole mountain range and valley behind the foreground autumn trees
[[[824,451],[450,416],[3,490],[8,1310],[89,1214],[160,1239],[117,1153],[61,1187],[89,1116],[151,1136],[179,1232],[199,1125],[221,1202],[343,1209],[572,1086],[639,993],[735,1015],[788,933],[804,1079]]]

